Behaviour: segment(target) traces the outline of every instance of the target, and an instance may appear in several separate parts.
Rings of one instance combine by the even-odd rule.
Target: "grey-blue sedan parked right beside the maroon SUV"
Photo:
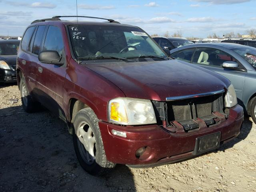
[[[236,90],[238,104],[256,123],[256,48],[232,43],[194,44],[171,50],[171,57],[228,78]]]

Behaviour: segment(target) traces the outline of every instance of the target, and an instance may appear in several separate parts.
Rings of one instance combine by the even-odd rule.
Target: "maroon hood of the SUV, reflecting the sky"
[[[165,101],[166,97],[226,89],[225,77],[180,60],[86,64],[114,83],[126,97]]]

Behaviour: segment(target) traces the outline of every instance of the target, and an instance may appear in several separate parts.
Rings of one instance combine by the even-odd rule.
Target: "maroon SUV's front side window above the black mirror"
[[[57,51],[61,56],[63,49],[64,49],[64,44],[63,44],[60,28],[56,26],[49,26],[46,34],[46,38],[44,41],[43,50]]]

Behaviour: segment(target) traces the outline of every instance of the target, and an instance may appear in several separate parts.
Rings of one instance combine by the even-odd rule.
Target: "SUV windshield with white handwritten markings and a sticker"
[[[166,54],[141,29],[130,26],[68,26],[72,48],[77,59],[138,58]]]

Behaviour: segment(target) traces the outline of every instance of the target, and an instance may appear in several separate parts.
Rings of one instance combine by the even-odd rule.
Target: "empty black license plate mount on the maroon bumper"
[[[220,147],[220,132],[196,138],[194,155],[199,155]]]

